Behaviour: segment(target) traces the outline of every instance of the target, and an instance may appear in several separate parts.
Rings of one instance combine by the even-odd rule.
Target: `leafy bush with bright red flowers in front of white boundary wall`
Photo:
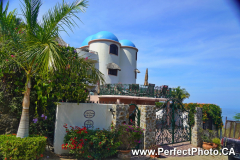
[[[71,127],[68,129],[62,149],[70,148],[76,158],[101,159],[117,153],[120,142],[117,142],[118,133],[108,130],[88,130],[86,127]]]

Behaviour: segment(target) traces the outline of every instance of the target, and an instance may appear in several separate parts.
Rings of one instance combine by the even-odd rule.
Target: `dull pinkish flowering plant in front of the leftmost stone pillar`
[[[117,127],[117,132],[120,134],[118,140],[121,142],[119,149],[129,150],[141,143],[144,129],[133,125],[120,125]]]

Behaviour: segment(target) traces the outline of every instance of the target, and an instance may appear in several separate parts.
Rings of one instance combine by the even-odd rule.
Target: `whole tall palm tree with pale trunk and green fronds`
[[[57,4],[52,10],[49,10],[42,17],[42,20],[39,21],[38,14],[41,5],[41,0],[23,0],[22,12],[25,24],[24,29],[20,34],[14,32],[18,37],[18,41],[12,43],[13,45],[10,48],[10,50],[14,48],[17,51],[14,56],[12,55],[12,59],[23,68],[26,73],[22,116],[17,132],[17,137],[21,138],[28,137],[29,134],[31,77],[38,73],[45,75],[47,78],[49,73],[56,70],[59,71],[66,66],[66,58],[60,52],[56,39],[60,37],[60,31],[66,32],[64,26],[72,30],[72,27],[77,25],[73,17],[79,19],[76,13],[85,11],[87,1],[76,0],[72,4],[67,4],[63,1],[62,4]],[[0,8],[2,8],[2,6],[1,3]],[[7,30],[10,22],[4,23],[3,21],[4,18],[7,18],[6,11],[7,7],[5,10],[2,9],[0,13],[0,24],[1,28],[4,29],[1,30],[1,34],[6,36],[4,42],[7,40],[11,41],[15,36],[11,35]],[[16,19],[14,21],[16,24]],[[11,23],[13,23],[13,21],[11,21]],[[17,46],[19,46],[19,44],[22,44],[24,47],[18,49]]]

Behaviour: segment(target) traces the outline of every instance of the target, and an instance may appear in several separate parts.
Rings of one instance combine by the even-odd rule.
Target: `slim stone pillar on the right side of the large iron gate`
[[[191,143],[195,147],[201,147],[202,141],[201,141],[200,129],[203,127],[202,108],[199,108],[199,107],[196,108],[196,114],[194,115],[194,119],[195,119],[195,124],[192,127]]]

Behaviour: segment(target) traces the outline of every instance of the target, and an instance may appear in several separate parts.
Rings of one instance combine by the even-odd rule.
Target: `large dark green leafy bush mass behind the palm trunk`
[[[66,68],[46,75],[34,74],[30,93],[29,131],[30,134],[47,136],[53,142],[56,103],[85,102],[89,83],[95,83],[100,75],[90,59],[78,57],[73,47],[59,46],[67,58]],[[1,53],[1,49],[0,49]],[[0,113],[10,114],[20,121],[25,91],[25,71],[16,62],[0,54]],[[16,58],[14,56],[14,58]],[[36,64],[37,66],[37,64]],[[99,76],[99,77],[98,77]],[[101,79],[101,77],[100,77]],[[47,116],[43,120],[41,115]],[[34,123],[33,119],[38,119]],[[17,128],[16,128],[17,130]]]

